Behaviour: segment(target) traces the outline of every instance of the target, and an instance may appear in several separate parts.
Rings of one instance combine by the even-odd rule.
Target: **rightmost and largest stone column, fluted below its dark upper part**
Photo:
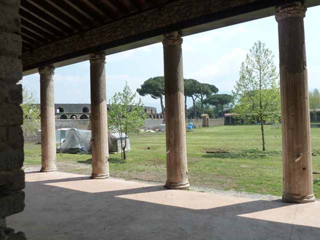
[[[306,8],[295,2],[280,6],[280,91],[282,106],[283,201],[315,200],[312,181],[308,76],[303,18]]]

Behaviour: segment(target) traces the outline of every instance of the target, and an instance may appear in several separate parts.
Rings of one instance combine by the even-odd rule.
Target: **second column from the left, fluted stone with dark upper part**
[[[106,56],[90,54],[92,175],[93,179],[109,177]]]

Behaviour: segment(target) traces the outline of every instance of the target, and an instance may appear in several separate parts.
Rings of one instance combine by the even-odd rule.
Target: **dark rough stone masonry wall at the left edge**
[[[0,239],[20,239],[4,219],[24,209],[19,7],[20,0],[0,0]]]

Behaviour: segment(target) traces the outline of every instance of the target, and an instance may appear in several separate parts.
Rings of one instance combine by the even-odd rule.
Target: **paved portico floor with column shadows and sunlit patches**
[[[26,172],[7,225],[36,239],[320,239],[320,201],[284,204],[119,179]]]

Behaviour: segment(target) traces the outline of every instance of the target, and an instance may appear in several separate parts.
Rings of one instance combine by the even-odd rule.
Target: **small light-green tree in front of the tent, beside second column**
[[[110,100],[109,129],[120,135],[121,159],[124,160],[126,160],[127,133],[139,132],[147,118],[141,99],[136,101],[135,98],[136,93],[132,93],[126,83],[122,92],[116,92]]]

